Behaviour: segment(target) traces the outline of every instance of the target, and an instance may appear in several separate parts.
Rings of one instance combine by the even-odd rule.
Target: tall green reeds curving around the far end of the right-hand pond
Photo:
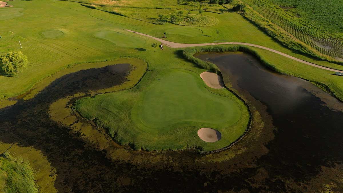
[[[220,70],[215,64],[196,58],[194,57],[194,54],[200,53],[200,52],[238,52],[238,51],[254,55],[255,57],[257,57],[257,59],[261,61],[263,65],[277,72],[284,73],[283,71],[277,69],[274,65],[270,64],[267,60],[265,60],[263,56],[261,56],[258,52],[251,49],[248,46],[243,46],[243,45],[192,47],[192,48],[186,48],[182,50],[182,55],[187,60],[197,64],[201,68],[218,73]]]

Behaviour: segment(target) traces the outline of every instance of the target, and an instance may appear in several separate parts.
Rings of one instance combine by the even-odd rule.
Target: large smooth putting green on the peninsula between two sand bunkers
[[[132,121],[146,132],[160,133],[180,123],[233,124],[240,117],[232,100],[205,89],[194,72],[160,72],[132,109]]]

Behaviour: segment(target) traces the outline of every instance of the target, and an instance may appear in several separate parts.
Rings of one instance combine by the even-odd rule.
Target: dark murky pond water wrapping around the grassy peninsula
[[[342,164],[342,103],[306,81],[264,69],[247,55],[200,57],[221,68],[224,81],[264,122],[259,130],[255,120],[250,133],[226,151],[200,156],[128,150],[142,162],[152,157],[161,161],[139,164],[122,154],[111,161],[105,150],[51,120],[48,108],[54,101],[121,84],[128,64],[65,75],[35,98],[1,109],[0,141],[41,150],[57,171],[59,192],[313,192],[310,180],[322,166]]]

